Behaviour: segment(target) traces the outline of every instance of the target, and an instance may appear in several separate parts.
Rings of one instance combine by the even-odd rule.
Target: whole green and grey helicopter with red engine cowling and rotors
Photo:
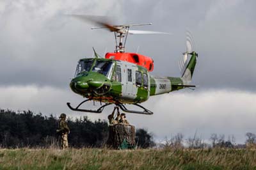
[[[190,82],[198,54],[192,50],[194,42],[189,31],[187,31],[186,52],[183,53],[179,61],[181,77],[158,77],[149,74],[154,70],[154,60],[138,53],[125,52],[125,43],[130,34],[168,33],[130,29],[130,27],[151,25],[152,23],[115,26],[106,20],[99,21],[99,19],[88,15],[72,15],[72,17],[100,25],[100,27],[92,27],[92,29],[107,29],[113,32],[116,43],[115,52],[107,52],[105,58],[100,58],[93,48],[94,58],[83,58],[78,61],[70,88],[86,100],[77,107],[72,107],[68,102],[67,105],[72,111],[101,113],[106,106],[114,104],[124,112],[153,114],[152,111],[141,105],[149,97],[196,87]],[[90,101],[100,102],[101,106],[97,110],[81,108],[81,105]],[[140,110],[130,110],[125,105],[135,105]]]

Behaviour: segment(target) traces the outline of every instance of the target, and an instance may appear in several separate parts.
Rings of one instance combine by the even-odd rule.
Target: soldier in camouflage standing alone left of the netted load
[[[63,149],[68,148],[68,134],[70,130],[66,122],[66,114],[64,113],[60,114],[59,128],[56,132],[61,135],[61,147]]]

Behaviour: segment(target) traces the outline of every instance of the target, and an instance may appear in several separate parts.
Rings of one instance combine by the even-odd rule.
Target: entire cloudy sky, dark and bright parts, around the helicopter
[[[156,139],[195,132],[235,135],[243,143],[246,132],[256,134],[255,1],[0,1],[0,108],[67,112],[68,116],[106,118],[102,114],[72,112],[66,102],[82,97],[69,89],[77,61],[113,51],[113,33],[91,30],[90,24],[65,14],[108,15],[115,24],[147,23],[136,27],[172,35],[131,35],[127,51],[154,59],[153,75],[179,77],[178,61],[185,47],[185,31],[195,38],[198,64],[193,83],[185,89],[152,97],[143,103],[153,116],[127,115],[137,128]],[[98,104],[99,106],[99,104]],[[90,105],[88,105],[90,107]]]

